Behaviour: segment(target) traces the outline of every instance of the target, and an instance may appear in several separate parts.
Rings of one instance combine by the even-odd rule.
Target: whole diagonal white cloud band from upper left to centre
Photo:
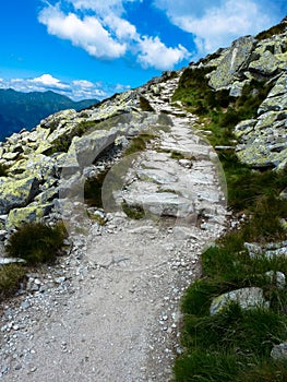
[[[97,59],[134,55],[143,68],[172,69],[188,57],[187,49],[181,45],[168,47],[158,36],[141,36],[136,26],[124,19],[124,5],[136,1],[142,2],[62,0],[45,7],[38,20],[47,26],[49,34],[70,40]],[[64,10],[64,5],[70,7]]]

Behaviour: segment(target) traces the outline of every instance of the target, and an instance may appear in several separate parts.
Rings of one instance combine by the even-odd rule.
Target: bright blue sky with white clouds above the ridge
[[[0,87],[103,99],[287,15],[287,0],[13,0],[0,5]]]

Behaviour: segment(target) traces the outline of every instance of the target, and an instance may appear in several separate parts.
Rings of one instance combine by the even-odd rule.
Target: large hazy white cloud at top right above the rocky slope
[[[213,52],[234,39],[255,34],[275,23],[272,12],[258,0],[155,0],[170,21],[194,37],[199,53]],[[266,4],[265,4],[266,5]]]

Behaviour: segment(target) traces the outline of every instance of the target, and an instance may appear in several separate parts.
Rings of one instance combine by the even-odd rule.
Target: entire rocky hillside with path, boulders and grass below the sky
[[[286,381],[286,81],[284,20],[0,144],[4,378]]]

